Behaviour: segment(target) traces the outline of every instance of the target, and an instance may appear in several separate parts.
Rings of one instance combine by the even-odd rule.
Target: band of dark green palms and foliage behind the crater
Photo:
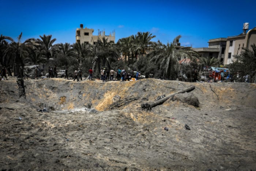
[[[52,35],[31,38],[25,42],[18,42],[12,38],[1,35],[0,37],[0,63],[9,73],[14,71],[18,76],[19,67],[24,65],[43,65],[44,73],[49,67],[58,69],[68,68],[69,73],[75,69],[82,70],[84,76],[93,68],[94,76],[99,78],[100,70],[106,68],[115,71],[140,71],[146,78],[152,77],[170,80],[196,81],[198,71],[203,66],[218,66],[216,58],[199,57],[190,47],[181,47],[179,39],[174,38],[172,43],[162,44],[153,42],[155,38],[150,32],[138,32],[127,38],[119,39],[117,43],[108,39],[98,40],[91,45],[88,43],[59,43],[53,44],[56,39]],[[237,56],[237,62],[230,65],[233,74],[239,72],[240,77],[249,75],[250,81],[255,77],[255,46],[253,51],[245,51]],[[189,59],[189,62],[180,62]]]

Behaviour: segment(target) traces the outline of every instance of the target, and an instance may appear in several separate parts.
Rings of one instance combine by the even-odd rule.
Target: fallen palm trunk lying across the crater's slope
[[[191,92],[192,90],[195,89],[195,86],[190,86],[188,88],[182,89],[178,92],[175,92],[173,94],[170,94],[169,96],[166,96],[164,98],[161,98],[160,100],[154,101],[154,102],[149,102],[149,103],[143,103],[140,106],[142,107],[142,109],[147,109],[147,110],[151,110],[152,108],[154,108],[155,106],[161,105],[163,104],[166,100],[168,100],[169,98],[175,96],[176,94],[179,93],[185,93],[185,92]]]

